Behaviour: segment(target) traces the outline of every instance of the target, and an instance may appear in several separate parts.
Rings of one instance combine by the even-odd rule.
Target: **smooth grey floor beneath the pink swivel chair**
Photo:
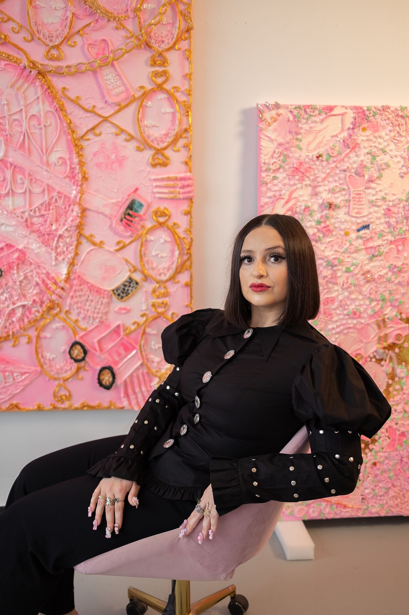
[[[231,581],[191,582],[191,599],[235,584],[248,615],[407,615],[409,518],[305,522],[315,560],[287,561],[273,534]],[[80,615],[124,615],[133,585],[167,600],[170,581],[75,573]],[[229,615],[224,598],[207,615]],[[148,609],[147,615],[155,611]]]

